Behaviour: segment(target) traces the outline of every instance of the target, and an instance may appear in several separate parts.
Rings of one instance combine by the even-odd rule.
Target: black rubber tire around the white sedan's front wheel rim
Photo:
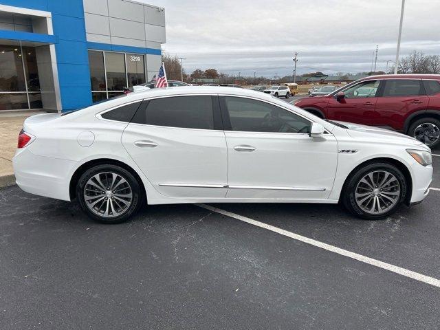
[[[388,173],[391,173],[399,182],[400,193],[399,196],[396,197],[396,202],[394,206],[382,214],[370,214],[369,212],[366,212],[364,209],[358,206],[358,203],[355,200],[356,187],[358,186],[362,178],[373,171],[386,171]],[[382,162],[366,164],[356,173],[350,175],[347,180],[348,181],[344,185],[344,190],[342,191],[342,203],[347,208],[347,210],[349,210],[352,214],[361,219],[379,220],[388,217],[389,215],[393,214],[397,210],[397,208],[399,208],[399,205],[405,200],[408,193],[408,184],[406,184],[405,176],[403,175],[403,173],[401,173],[401,170],[399,170],[399,168],[397,168],[393,164]]]

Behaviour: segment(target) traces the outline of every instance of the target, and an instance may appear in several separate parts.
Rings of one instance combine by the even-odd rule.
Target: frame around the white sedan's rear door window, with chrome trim
[[[189,127],[176,127],[176,126],[163,126],[163,125],[152,125],[152,124],[142,124],[139,122],[133,122],[133,118],[135,118],[135,115],[137,111],[146,110],[148,107],[148,103],[151,100],[158,100],[161,98],[179,98],[184,96],[209,96],[211,98],[212,102],[212,120],[213,120],[213,129],[193,129]],[[139,100],[137,100],[139,101]],[[136,101],[136,102],[137,102]],[[179,94],[179,95],[164,95],[164,96],[157,96],[155,98],[145,98],[143,100],[145,102],[145,107],[142,107],[143,103],[139,108],[137,108],[137,111],[133,115],[133,118],[131,118],[130,124],[133,125],[142,125],[142,126],[151,126],[151,127],[163,127],[166,129],[189,129],[191,131],[223,131],[223,123],[221,120],[221,111],[220,111],[220,103],[219,103],[219,96],[217,94]]]

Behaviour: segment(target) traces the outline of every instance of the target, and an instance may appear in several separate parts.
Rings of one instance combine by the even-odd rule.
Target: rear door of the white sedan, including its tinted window
[[[122,144],[162,195],[225,197],[228,156],[218,108],[212,96],[157,98],[124,130]]]

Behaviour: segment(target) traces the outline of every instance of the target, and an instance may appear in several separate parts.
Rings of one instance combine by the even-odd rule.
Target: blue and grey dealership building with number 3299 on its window
[[[131,0],[0,0],[0,111],[87,107],[151,80],[164,8]]]

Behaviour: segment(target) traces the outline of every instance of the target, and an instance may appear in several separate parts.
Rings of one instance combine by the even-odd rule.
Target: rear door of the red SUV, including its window
[[[388,126],[402,131],[408,115],[428,108],[421,79],[386,79],[375,107],[375,126]]]

